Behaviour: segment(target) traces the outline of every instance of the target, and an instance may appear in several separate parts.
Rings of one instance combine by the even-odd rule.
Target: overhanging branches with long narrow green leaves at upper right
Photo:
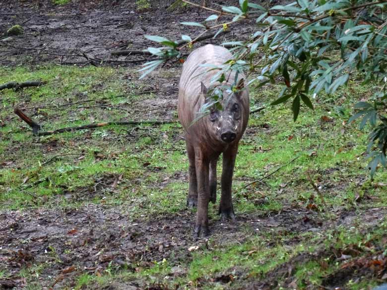
[[[221,10],[186,3],[214,12],[202,22],[182,22],[183,25],[203,29],[194,39],[183,35],[186,43],[177,48],[176,42],[151,39],[166,47],[148,48],[163,60],[148,63],[145,73],[191,49],[195,41],[211,30],[214,38],[232,30],[237,22],[256,19],[258,29],[247,41],[232,41],[234,59],[222,65],[210,66],[217,70],[213,82],[220,90],[233,89],[225,77],[230,70],[250,76],[250,84],[261,87],[267,83],[282,83],[283,89],[271,105],[291,101],[293,118],[297,120],[301,107],[313,110],[312,100],[321,92],[334,94],[356,75],[364,84],[372,84],[375,91],[371,102],[354,106],[358,112],[350,118],[362,118],[360,129],[370,128],[368,146],[374,174],[378,164],[385,166],[387,148],[387,0],[297,0],[287,5],[265,8],[249,0],[239,0],[237,6],[221,6]],[[259,14],[258,14],[259,13]],[[313,98],[311,98],[313,96]],[[218,105],[214,100],[210,105]],[[208,104],[207,104],[208,105]],[[202,108],[203,109],[203,108]],[[202,110],[201,110],[202,111]],[[367,126],[369,124],[369,127]]]

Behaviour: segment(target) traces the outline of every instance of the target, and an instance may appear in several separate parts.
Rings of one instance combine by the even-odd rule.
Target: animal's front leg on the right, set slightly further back
[[[222,195],[220,197],[219,214],[222,220],[235,220],[231,187],[233,182],[235,158],[238,144],[230,146],[223,152]]]

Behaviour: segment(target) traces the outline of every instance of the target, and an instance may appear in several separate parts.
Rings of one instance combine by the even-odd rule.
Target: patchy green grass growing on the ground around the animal
[[[0,124],[4,124],[0,127],[0,210],[111,204],[125,208],[133,220],[178,215],[185,210],[188,159],[180,124],[112,125],[38,140],[13,114],[14,104],[32,108],[24,112],[43,124],[44,130],[138,119],[140,113],[133,107],[155,96],[136,94],[144,84],[127,81],[123,72],[110,67],[49,64],[33,69],[0,68],[0,83],[10,79],[47,82],[39,88],[4,90],[0,94]],[[79,271],[74,288],[100,289],[114,282],[140,281],[144,285],[162,283],[170,289],[176,284],[181,289],[238,289],[245,281],[271,275],[281,289],[286,279],[275,273],[288,264],[292,265],[291,278],[297,279],[297,289],[318,288],[323,277],[339,272],[344,263],[332,258],[333,250],[356,245],[359,255],[353,259],[367,258],[369,248],[380,253],[378,245],[382,247],[386,225],[381,222],[367,228],[361,217],[366,210],[386,207],[387,172],[380,170],[370,180],[364,157],[366,130],[346,123],[352,104],[370,97],[372,87],[352,82],[334,96],[320,95],[314,100],[315,110],[302,108],[296,122],[290,103],[268,106],[279,90],[277,85],[251,89],[252,109],[262,105],[267,109],[251,116],[240,144],[233,181],[235,212],[237,216],[267,218],[289,211],[308,212],[313,205],[317,218],[323,221],[319,234],[289,232],[282,227],[256,231],[246,224],[241,241],[226,239],[223,243],[210,237],[208,248],[200,245],[178,264],[170,257],[152,265],[132,261],[137,268],[134,272],[114,264],[101,270],[101,277]],[[344,108],[344,116],[337,113],[338,107]],[[307,173],[320,186],[326,208]],[[220,179],[221,161],[218,176]],[[245,187],[260,178],[262,183]],[[218,185],[218,200],[219,191]],[[213,223],[219,219],[217,206],[209,207]],[[352,228],[335,228],[338,212],[345,211],[357,213],[359,218],[353,220]],[[316,252],[321,255],[313,256]],[[300,255],[308,258],[298,260]],[[37,289],[36,276],[44,265],[37,263],[19,273],[31,281],[29,289]],[[184,268],[186,273],[165,279],[172,277],[168,275],[174,266]],[[222,275],[237,278],[226,285],[215,279]],[[0,269],[0,278],[7,276]],[[375,281],[348,281],[346,287],[357,290]]]

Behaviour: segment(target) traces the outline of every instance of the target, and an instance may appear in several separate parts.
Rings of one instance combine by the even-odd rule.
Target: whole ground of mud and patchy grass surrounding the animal
[[[139,80],[148,56],[111,56],[151,46],[144,34],[197,35],[179,22],[208,13],[170,12],[172,2],[2,1],[0,31],[21,24],[24,35],[0,37],[0,84],[45,84],[0,91],[0,289],[358,290],[386,282],[387,173],[371,180],[367,134],[347,123],[352,105],[373,95],[360,78],[317,96],[296,122],[290,104],[269,106],[279,84],[253,84],[251,110],[266,109],[251,114],[241,140],[237,220],[222,223],[210,204],[210,236],[192,237],[176,122],[181,64]],[[244,37],[255,27],[237,29]],[[15,107],[42,130],[171,122],[35,137]]]

